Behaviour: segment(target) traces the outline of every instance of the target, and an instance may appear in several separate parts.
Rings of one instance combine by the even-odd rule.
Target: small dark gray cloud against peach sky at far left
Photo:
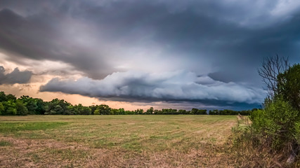
[[[0,85],[28,83],[31,76],[31,71],[20,71],[18,68],[15,68],[11,73],[5,73],[4,66],[0,66]]]

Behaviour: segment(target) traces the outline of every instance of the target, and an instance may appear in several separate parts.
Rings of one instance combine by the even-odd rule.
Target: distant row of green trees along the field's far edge
[[[255,111],[256,109],[252,109]],[[26,116],[26,115],[244,115],[249,116],[252,111],[233,111],[233,110],[211,110],[191,109],[162,109],[157,110],[150,107],[144,111],[125,111],[124,109],[112,109],[105,104],[82,106],[82,104],[72,105],[63,99],[53,99],[44,102],[43,99],[29,96],[15,97],[13,94],[0,92],[0,115],[1,116]]]

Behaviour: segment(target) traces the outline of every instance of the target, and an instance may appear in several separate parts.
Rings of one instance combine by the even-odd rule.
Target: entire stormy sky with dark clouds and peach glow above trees
[[[252,109],[300,61],[297,0],[0,0],[0,90],[114,108]]]

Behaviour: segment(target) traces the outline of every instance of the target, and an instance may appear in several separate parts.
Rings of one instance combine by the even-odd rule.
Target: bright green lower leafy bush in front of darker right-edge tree
[[[299,132],[296,132],[299,111],[282,97],[266,104],[265,109],[254,111],[250,119],[254,133],[265,137],[273,148],[285,147],[299,136]]]

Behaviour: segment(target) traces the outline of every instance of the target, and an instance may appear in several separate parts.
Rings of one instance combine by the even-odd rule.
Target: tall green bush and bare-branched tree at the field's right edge
[[[268,58],[259,69],[269,89],[264,109],[250,115],[254,136],[275,149],[291,151],[288,161],[299,153],[300,65],[290,66],[283,57]],[[292,148],[291,148],[292,147]]]

